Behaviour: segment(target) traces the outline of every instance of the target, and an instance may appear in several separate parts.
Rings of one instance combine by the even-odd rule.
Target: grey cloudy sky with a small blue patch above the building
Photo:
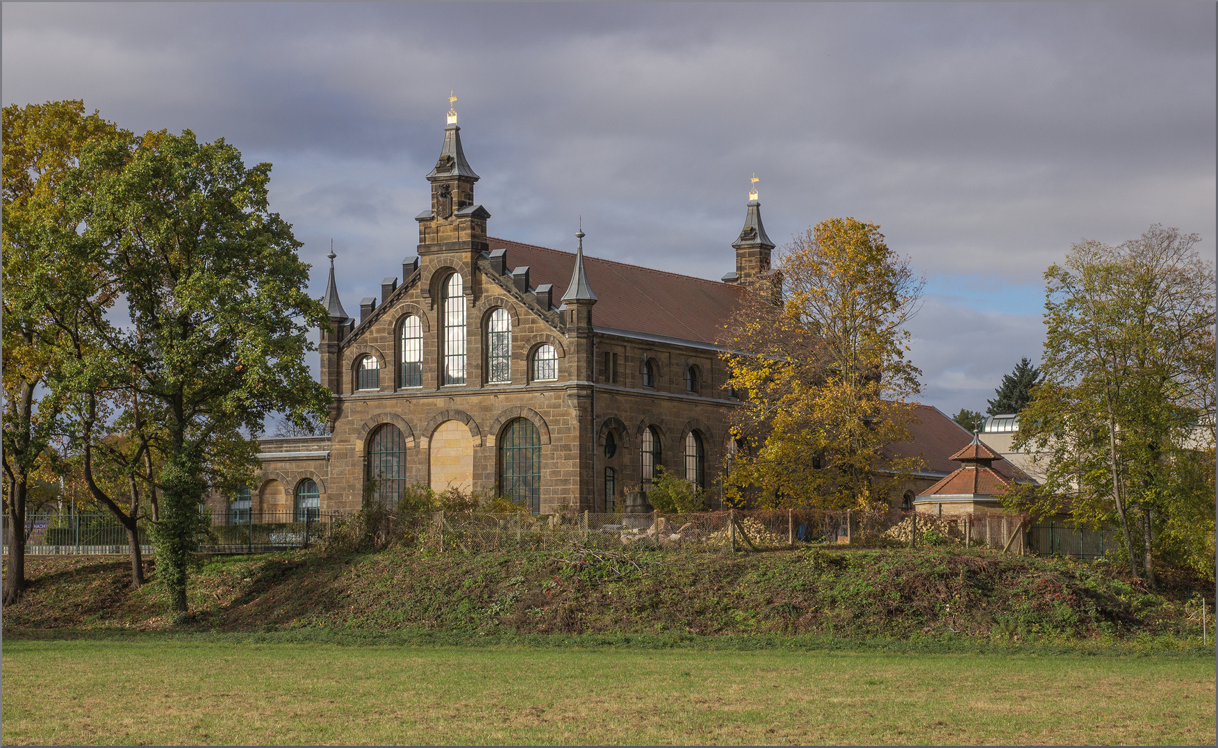
[[[717,279],[770,238],[882,224],[927,278],[924,402],[1039,358],[1041,273],[1152,223],[1213,256],[1216,10],[1175,4],[16,4],[5,105],[274,163],[272,206],[348,309],[414,253],[449,89],[490,233]]]

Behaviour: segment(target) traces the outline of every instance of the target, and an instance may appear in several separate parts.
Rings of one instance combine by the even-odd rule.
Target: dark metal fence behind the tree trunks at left
[[[203,512],[201,553],[266,553],[302,548],[325,540],[342,514],[309,512]],[[9,552],[9,517],[4,517],[4,552]],[[155,552],[147,520],[138,523],[140,553]],[[108,512],[57,512],[26,517],[26,553],[32,556],[127,554],[127,527]]]

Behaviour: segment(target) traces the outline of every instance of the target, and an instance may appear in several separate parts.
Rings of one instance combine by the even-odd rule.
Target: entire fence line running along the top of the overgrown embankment
[[[374,534],[380,542],[424,545],[437,551],[582,547],[599,549],[685,548],[703,552],[765,551],[805,545],[990,547],[1012,553],[1061,553],[1102,558],[1116,548],[1112,530],[1080,530],[1061,523],[1030,526],[1027,515],[972,513],[937,515],[878,509],[752,509],[688,514],[484,512],[386,513],[376,527],[339,512],[203,513],[202,553],[264,553],[325,542],[335,532]],[[125,554],[127,529],[113,514],[58,512],[26,519],[29,554]],[[139,523],[141,553],[155,552],[147,520]],[[9,518],[4,518],[4,549]]]

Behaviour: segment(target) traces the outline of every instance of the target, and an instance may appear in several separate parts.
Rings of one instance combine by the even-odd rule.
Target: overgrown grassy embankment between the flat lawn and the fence
[[[324,548],[206,559],[175,629],[164,587],[129,590],[125,562],[29,559],[5,632],[441,631],[831,636],[864,641],[1200,638],[1200,601],[1104,564],[933,548],[758,554],[586,551],[435,553]],[[151,563],[151,562],[150,562]],[[153,564],[155,565],[155,564]],[[150,574],[156,581],[156,574]],[[1200,588],[1200,584],[1197,584]],[[1212,620],[1212,619],[1211,619]],[[181,627],[184,626],[184,627]],[[1212,630],[1212,629],[1211,629]],[[1189,638],[1191,637],[1191,638]]]

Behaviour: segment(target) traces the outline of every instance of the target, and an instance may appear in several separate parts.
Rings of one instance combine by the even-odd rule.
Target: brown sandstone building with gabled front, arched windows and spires
[[[780,288],[756,192],[732,244],[736,272],[711,281],[586,257],[582,230],[574,252],[488,236],[453,111],[426,179],[418,256],[361,301],[358,319],[339,300],[331,252],[322,301],[334,330],[320,341],[331,434],[263,440],[251,508],[353,510],[365,493],[391,501],[426,484],[512,496],[533,512],[604,512],[658,465],[706,489],[714,506],[739,407],[715,341],[745,294]],[[924,411],[921,431],[952,431],[939,451],[967,441]],[[907,493],[946,471],[916,478]]]

